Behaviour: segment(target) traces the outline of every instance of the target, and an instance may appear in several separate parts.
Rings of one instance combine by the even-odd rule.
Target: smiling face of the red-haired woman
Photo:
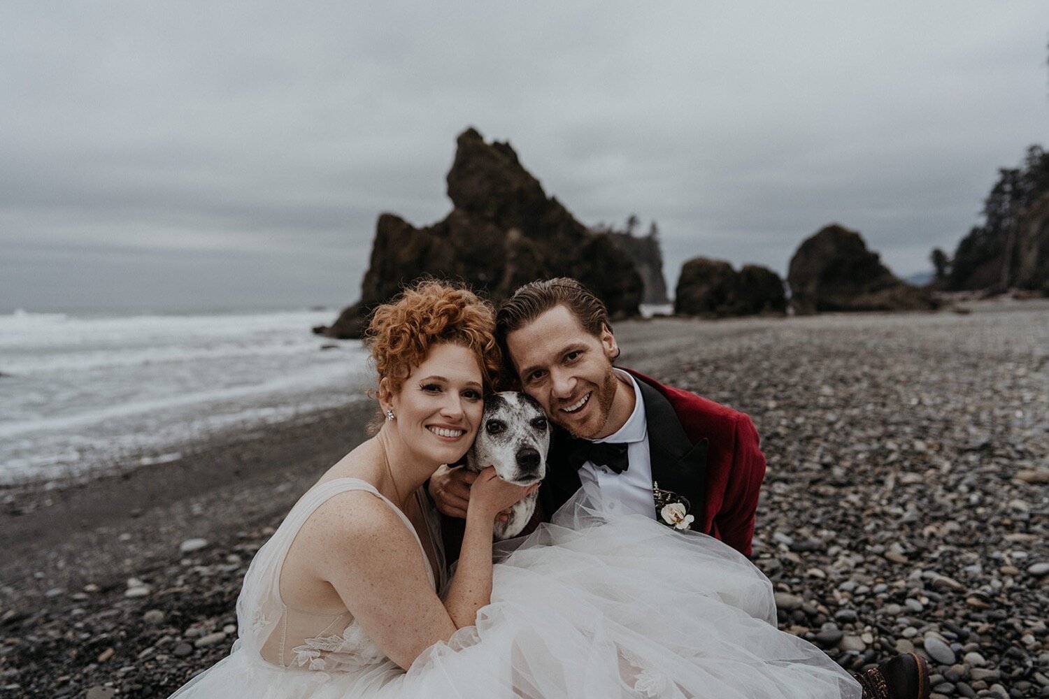
[[[454,463],[477,434],[483,390],[473,352],[461,345],[434,345],[391,396],[397,419],[390,427],[420,457]]]

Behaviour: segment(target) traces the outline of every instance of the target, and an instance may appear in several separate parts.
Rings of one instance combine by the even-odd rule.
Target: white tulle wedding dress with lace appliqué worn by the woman
[[[231,655],[173,697],[860,697],[823,653],[776,629],[772,585],[745,556],[705,534],[609,514],[584,489],[552,523],[496,546],[492,604],[476,626],[405,673],[349,613],[317,616],[280,598],[299,528],[328,498],[357,489],[382,498],[414,533],[362,480],[312,488],[252,562]],[[440,541],[435,511],[416,496]]]

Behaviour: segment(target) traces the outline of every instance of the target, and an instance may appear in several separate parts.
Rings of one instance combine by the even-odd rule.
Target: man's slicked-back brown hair
[[[601,335],[602,328],[607,328],[608,332],[612,332],[608,309],[605,308],[604,302],[580,281],[571,277],[556,277],[530,282],[504,301],[495,314],[495,336],[502,348],[505,362],[508,364],[510,362],[507,335],[514,330],[520,330],[556,306],[568,308],[579,325],[595,337]]]

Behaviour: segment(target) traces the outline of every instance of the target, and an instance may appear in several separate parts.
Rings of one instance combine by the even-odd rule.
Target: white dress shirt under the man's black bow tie
[[[583,485],[597,486],[605,506],[611,510],[622,508],[656,519],[656,496],[652,494],[652,464],[648,454],[648,423],[645,421],[645,402],[637,380],[625,371],[614,369],[616,377],[634,388],[634,412],[615,434],[595,442],[626,443],[626,471],[617,474],[606,466],[596,466],[587,461],[579,468]]]

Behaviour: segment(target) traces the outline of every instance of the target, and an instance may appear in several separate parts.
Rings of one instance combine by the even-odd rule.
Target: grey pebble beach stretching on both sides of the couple
[[[623,366],[757,427],[783,630],[851,670],[918,652],[934,697],[1049,697],[1049,300],[615,331]],[[167,697],[227,655],[252,555],[372,411],[8,492],[0,697]]]

